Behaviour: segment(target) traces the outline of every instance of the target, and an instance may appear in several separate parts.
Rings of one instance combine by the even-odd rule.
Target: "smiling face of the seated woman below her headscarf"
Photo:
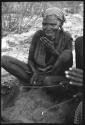
[[[60,25],[61,20],[57,19],[55,15],[49,15],[43,19],[42,28],[47,36],[54,36]]]

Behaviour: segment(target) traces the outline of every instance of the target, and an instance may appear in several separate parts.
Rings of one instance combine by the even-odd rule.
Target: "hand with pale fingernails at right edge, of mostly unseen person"
[[[78,68],[69,68],[65,71],[66,77],[70,79],[70,84],[83,86],[83,70]]]

